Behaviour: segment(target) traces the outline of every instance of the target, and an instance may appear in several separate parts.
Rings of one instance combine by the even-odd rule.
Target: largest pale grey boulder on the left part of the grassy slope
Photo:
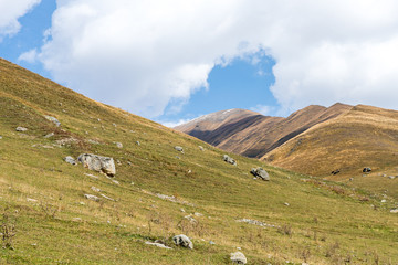
[[[90,170],[104,172],[111,177],[116,174],[115,161],[113,158],[82,153],[78,156],[77,160],[83,163],[83,167],[88,168]]]

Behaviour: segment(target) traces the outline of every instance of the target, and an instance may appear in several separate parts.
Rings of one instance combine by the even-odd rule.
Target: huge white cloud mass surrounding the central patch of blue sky
[[[147,117],[206,87],[214,64],[260,50],[284,112],[396,108],[397,11],[394,0],[59,0],[39,59],[56,81]]]

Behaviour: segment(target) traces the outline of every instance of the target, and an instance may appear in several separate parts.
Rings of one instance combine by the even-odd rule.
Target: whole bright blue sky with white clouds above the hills
[[[167,125],[397,109],[397,13],[394,0],[0,0],[0,56]]]

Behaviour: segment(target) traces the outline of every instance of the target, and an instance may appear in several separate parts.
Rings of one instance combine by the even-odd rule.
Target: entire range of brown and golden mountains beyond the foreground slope
[[[337,103],[312,105],[287,118],[244,109],[205,115],[175,129],[227,151],[298,172],[357,173],[362,167],[398,166],[398,112]]]

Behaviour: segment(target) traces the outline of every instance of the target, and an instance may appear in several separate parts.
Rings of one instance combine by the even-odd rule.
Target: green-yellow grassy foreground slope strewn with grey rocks
[[[398,263],[394,199],[230,155],[234,167],[200,140],[3,60],[0,136],[1,264],[231,264],[237,247],[248,264]],[[118,160],[115,178],[63,161],[83,152]],[[259,166],[271,181],[253,180]],[[181,233],[193,250],[172,244]],[[145,244],[155,240],[174,250]]]

